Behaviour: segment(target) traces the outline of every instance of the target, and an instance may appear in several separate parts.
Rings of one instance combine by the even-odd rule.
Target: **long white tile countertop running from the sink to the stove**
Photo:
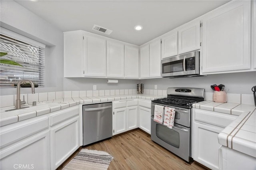
[[[8,111],[14,109],[15,107],[4,107],[0,109],[0,127],[9,125],[11,123],[16,123],[18,121],[23,121],[36,116],[44,115],[47,113],[52,113],[61,109],[72,107],[79,104],[91,104],[107,101],[117,101],[126,99],[145,99],[154,100],[164,98],[166,96],[158,95],[110,95],[110,96],[87,96],[87,97],[73,97],[73,98],[62,98],[54,99],[49,101],[38,102],[36,106],[31,106],[28,104],[22,105],[22,107],[31,106],[24,109],[18,109],[14,111]]]

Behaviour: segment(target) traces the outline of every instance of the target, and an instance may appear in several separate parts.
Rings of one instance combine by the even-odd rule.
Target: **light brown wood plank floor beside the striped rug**
[[[204,170],[193,162],[188,164],[137,129],[84,148],[102,150],[114,159],[108,170]]]

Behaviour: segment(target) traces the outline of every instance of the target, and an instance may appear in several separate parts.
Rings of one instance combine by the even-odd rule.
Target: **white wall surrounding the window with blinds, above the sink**
[[[1,27],[46,44],[45,87],[38,92],[63,90],[63,32],[12,0],[0,1]],[[21,93],[30,93],[22,89]],[[16,88],[1,88],[1,95],[16,94]]]

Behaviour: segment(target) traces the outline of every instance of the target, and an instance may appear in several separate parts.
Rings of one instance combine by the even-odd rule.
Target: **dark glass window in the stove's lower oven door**
[[[177,131],[163,125],[156,124],[156,136],[164,142],[176,148],[180,148],[180,134]]]

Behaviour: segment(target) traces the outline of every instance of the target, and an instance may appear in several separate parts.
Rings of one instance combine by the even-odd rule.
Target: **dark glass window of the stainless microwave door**
[[[174,73],[183,71],[183,59],[162,63],[162,73]]]

